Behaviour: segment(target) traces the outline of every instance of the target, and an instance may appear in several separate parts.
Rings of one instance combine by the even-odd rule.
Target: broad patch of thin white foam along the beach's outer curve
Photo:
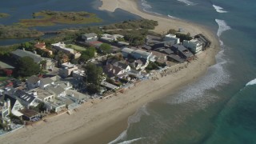
[[[227,84],[230,81],[230,75],[224,69],[226,65],[224,50],[216,55],[217,64],[210,66],[206,75],[202,76],[196,83],[192,83],[184,90],[178,93],[174,98],[170,98],[167,103],[179,104],[196,100],[200,103],[201,108],[215,100],[216,96],[210,95],[207,90],[218,90],[218,86]]]

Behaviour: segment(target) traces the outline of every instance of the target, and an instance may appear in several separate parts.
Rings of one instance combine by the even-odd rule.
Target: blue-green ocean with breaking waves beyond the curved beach
[[[256,143],[256,2],[140,0],[142,10],[208,27],[217,63],[198,81],[142,106],[112,143]]]

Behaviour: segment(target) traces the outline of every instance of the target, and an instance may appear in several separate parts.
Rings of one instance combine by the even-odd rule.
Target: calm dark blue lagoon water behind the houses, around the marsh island
[[[55,26],[38,26],[31,29],[37,29],[42,31],[62,30],[65,28],[81,27],[81,26],[102,26],[114,22],[122,22],[127,19],[138,19],[138,16],[127,13],[124,10],[117,10],[114,13],[98,10],[98,6],[101,2],[98,0],[24,0],[24,1],[10,1],[1,0],[0,13],[10,14],[8,18],[0,18],[0,25],[13,25],[19,22],[20,19],[32,18],[34,12],[40,10],[55,10],[55,11],[87,11],[97,14],[99,18],[102,18],[102,22],[90,23],[86,25],[65,25],[58,24]],[[124,17],[125,15],[125,17]],[[14,43],[26,42],[33,40],[34,38],[11,38],[0,39],[0,46],[11,45]]]

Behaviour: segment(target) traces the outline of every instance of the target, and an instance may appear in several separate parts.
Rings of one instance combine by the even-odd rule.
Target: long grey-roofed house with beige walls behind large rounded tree
[[[42,65],[42,68],[44,70],[48,70],[48,69],[53,69],[55,67],[56,61],[54,59],[50,59],[50,58],[42,58],[40,55],[36,54],[36,52],[34,51],[34,53],[30,52],[30,51],[26,51],[26,50],[15,50],[12,51],[11,54],[13,55],[14,58],[22,58],[22,57],[30,57],[33,58],[35,63],[41,64],[41,62],[44,62],[45,64]]]

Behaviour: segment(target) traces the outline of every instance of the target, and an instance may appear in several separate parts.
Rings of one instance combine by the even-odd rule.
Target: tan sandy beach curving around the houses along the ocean
[[[198,55],[198,60],[188,64],[186,68],[165,77],[158,76],[158,80],[139,82],[136,86],[126,90],[123,94],[104,100],[92,100],[78,108],[74,114],[61,114],[57,117],[39,122],[33,126],[26,126],[0,138],[1,143],[106,143],[110,142],[126,129],[127,118],[147,102],[174,93],[198,77],[206,73],[209,66],[215,63],[218,53],[218,39],[215,34],[202,26],[170,18],[146,14],[138,10],[134,0],[102,0],[100,10],[114,11],[117,8],[137,14],[142,18],[158,21],[154,30],[162,34],[163,31],[182,27],[186,32],[204,34],[212,41],[211,48]],[[178,67],[173,67],[178,69]],[[98,137],[96,137],[96,136]],[[99,137],[100,135],[100,137]]]

